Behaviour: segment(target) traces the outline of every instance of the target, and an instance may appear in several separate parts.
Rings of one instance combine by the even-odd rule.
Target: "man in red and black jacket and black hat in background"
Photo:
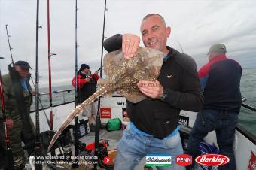
[[[90,66],[82,64],[78,71],[78,103],[84,102],[93,93],[96,92],[96,83],[99,80],[98,72],[91,74]],[[75,77],[72,80],[72,85],[75,87]],[[96,123],[97,114],[97,102],[93,102],[84,108],[83,115],[89,119],[90,130],[94,131],[94,125]]]

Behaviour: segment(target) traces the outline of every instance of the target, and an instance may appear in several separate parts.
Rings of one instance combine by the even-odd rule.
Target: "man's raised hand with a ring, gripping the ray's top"
[[[133,57],[137,48],[139,48],[140,38],[137,35],[133,34],[124,34],[122,41],[122,51],[124,53],[124,58],[129,59]]]

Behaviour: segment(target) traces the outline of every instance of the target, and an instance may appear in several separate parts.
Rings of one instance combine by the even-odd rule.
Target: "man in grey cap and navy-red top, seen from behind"
[[[198,72],[205,97],[203,111],[194,123],[187,151],[199,156],[199,143],[208,132],[215,130],[220,154],[230,158],[219,169],[236,170],[233,139],[238,114],[242,104],[240,79],[242,68],[238,62],[228,59],[224,44],[214,44],[209,49],[209,62]]]

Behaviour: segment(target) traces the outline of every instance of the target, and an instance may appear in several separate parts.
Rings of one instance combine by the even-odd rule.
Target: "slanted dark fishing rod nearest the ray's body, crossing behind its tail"
[[[107,5],[107,0],[105,0],[105,6],[104,6],[104,17],[103,17],[103,30],[102,30],[102,55],[100,58],[100,77],[102,77],[102,62],[103,62],[103,42],[104,42],[104,38],[105,38],[105,11],[107,11],[106,8]],[[99,116],[99,111],[100,111],[100,99],[101,97],[99,97],[98,99],[98,111],[97,111],[97,115],[96,115],[96,130],[95,130],[95,156],[97,156],[97,162],[99,162],[99,128],[100,128],[100,116]],[[93,167],[94,170],[97,169],[97,164],[94,164]]]

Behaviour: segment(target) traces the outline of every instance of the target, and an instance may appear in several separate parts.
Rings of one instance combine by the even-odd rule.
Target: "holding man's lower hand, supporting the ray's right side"
[[[145,81],[140,80],[137,83],[139,90],[148,97],[153,99],[159,99],[163,94],[163,86],[158,80]]]

